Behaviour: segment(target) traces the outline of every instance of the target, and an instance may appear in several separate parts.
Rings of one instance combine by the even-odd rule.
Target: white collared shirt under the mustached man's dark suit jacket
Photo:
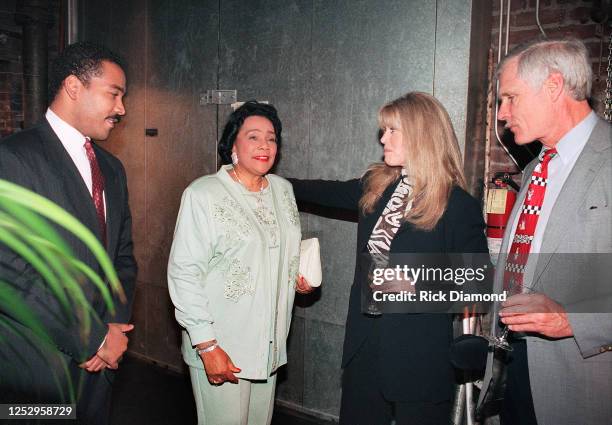
[[[51,110],[47,109],[45,114],[49,125],[62,142],[64,149],[68,152],[72,162],[79,170],[79,174],[85,182],[85,186],[89,190],[89,194],[92,195],[92,178],[91,178],[91,166],[89,165],[89,159],[87,158],[87,152],[85,151],[85,140],[86,137],[81,134],[79,130],[68,124],[66,121],[61,119]],[[106,215],[106,196],[102,193],[102,199],[104,200],[104,214]]]

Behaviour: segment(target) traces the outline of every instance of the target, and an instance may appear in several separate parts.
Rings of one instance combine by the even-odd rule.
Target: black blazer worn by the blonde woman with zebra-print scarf
[[[289,179],[296,199],[326,207],[357,211],[363,193],[362,180],[346,182]],[[361,285],[368,270],[360,260],[366,244],[398,182],[390,185],[371,214],[359,211],[356,267],[346,321],[342,367],[346,367],[380,321],[382,389],[391,401],[442,401],[452,394],[454,372],[449,361],[453,338],[452,315],[438,313],[383,314],[379,318],[361,312]],[[453,188],[444,215],[429,232],[404,223],[391,254],[485,253],[484,221],[478,202],[459,187]]]

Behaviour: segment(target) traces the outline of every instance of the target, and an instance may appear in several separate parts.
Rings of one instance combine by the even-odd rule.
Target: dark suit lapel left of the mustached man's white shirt
[[[83,177],[46,120],[40,131],[44,140],[43,150],[49,160],[49,170],[57,173],[64,182],[63,195],[72,207],[72,214],[98,235],[96,209]]]

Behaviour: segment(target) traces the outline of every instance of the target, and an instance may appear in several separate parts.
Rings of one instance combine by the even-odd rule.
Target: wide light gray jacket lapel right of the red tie
[[[563,241],[566,234],[564,229],[574,225],[575,211],[583,204],[597,171],[606,160],[606,156],[600,153],[606,148],[610,148],[610,135],[606,136],[606,131],[609,131],[608,124],[600,120],[593,129],[555,201],[554,213],[548,219],[542,237],[542,246],[534,275],[534,286],[542,276],[552,255],[557,251],[559,244]]]

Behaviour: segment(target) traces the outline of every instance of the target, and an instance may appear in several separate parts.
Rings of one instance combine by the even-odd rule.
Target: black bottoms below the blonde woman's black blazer
[[[344,369],[340,425],[447,425],[451,403],[387,400],[382,392],[378,365],[378,333],[373,335]],[[406,382],[406,385],[415,385]]]

